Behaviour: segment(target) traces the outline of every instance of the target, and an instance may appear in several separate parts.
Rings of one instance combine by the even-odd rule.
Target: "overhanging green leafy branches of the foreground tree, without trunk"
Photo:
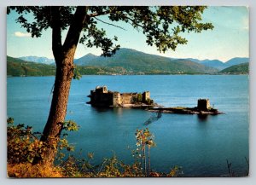
[[[201,14],[205,6],[92,6],[87,7],[86,21],[79,43],[87,47],[102,49],[103,56],[113,55],[119,44],[117,37],[108,38],[104,29],[99,29],[97,23],[102,21],[108,25],[116,26],[115,22],[123,21],[130,24],[146,36],[146,43],[155,45],[160,52],[167,49],[175,50],[178,44],[187,43],[186,38],[180,36],[181,32],[201,32],[212,29],[211,23],[202,23]],[[54,7],[49,6],[22,6],[8,7],[7,13],[15,10],[20,16],[16,20],[32,37],[40,37],[43,30],[53,28],[54,16],[58,14],[61,30],[66,30],[73,24],[74,14],[78,7],[60,7],[56,13]],[[24,14],[33,14],[34,20],[28,21]],[[101,16],[108,16],[112,22],[101,20]],[[120,26],[116,26],[121,28]]]

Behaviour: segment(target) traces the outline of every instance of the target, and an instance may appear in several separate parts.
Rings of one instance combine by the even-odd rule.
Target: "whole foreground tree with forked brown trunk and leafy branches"
[[[127,7],[127,6],[98,6],[98,7],[8,7],[10,11],[19,14],[17,23],[38,38],[42,31],[52,30],[52,51],[55,57],[56,72],[53,97],[49,117],[44,127],[41,142],[48,147],[41,157],[34,159],[34,163],[52,165],[55,159],[56,145],[60,140],[61,130],[67,113],[67,101],[71,81],[75,78],[73,57],[78,43],[87,47],[102,49],[102,56],[111,56],[119,49],[117,37],[108,38],[106,31],[97,28],[97,22],[114,25],[123,21],[130,24],[146,36],[149,46],[155,45],[160,52],[167,49],[175,50],[178,44],[185,44],[187,40],[179,34],[181,32],[201,32],[212,29],[211,23],[202,23],[203,6],[161,6],[161,7]],[[25,14],[32,14],[34,20],[26,20]],[[108,17],[109,22],[101,20],[101,16]],[[61,42],[61,32],[67,31],[65,41]]]

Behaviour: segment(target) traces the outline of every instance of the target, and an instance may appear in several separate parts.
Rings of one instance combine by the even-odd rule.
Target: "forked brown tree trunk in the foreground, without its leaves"
[[[55,56],[56,74],[49,117],[41,137],[46,150],[39,153],[40,157],[33,160],[34,164],[40,163],[41,165],[53,165],[55,159],[57,144],[60,141],[61,130],[67,113],[67,101],[74,69],[73,57],[85,24],[87,8],[77,8],[63,45],[61,44],[61,7],[52,7],[51,12],[52,50]]]

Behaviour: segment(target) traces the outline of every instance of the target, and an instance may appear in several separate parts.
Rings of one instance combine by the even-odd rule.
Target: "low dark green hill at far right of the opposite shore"
[[[221,74],[248,74],[249,73],[249,63],[241,63],[234,66],[229,66],[224,70],[218,72]]]

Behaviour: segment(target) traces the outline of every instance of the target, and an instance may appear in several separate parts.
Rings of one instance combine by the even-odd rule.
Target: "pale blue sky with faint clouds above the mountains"
[[[18,14],[7,15],[7,55],[13,57],[37,55],[53,58],[51,50],[51,30],[43,32],[41,38],[31,38],[20,24],[15,22]],[[247,7],[208,7],[202,15],[203,21],[212,22],[214,29],[201,33],[183,33],[188,39],[185,45],[179,45],[175,51],[165,54],[145,43],[145,36],[131,26],[120,23],[114,26],[99,23],[106,29],[108,36],[116,35],[123,48],[131,48],[148,54],[163,55],[173,58],[218,59],[228,61],[233,57],[249,57],[249,10]],[[102,20],[105,20],[103,17]],[[65,38],[65,32],[63,37]],[[89,49],[79,44],[75,58],[88,53],[101,54],[101,49]]]

